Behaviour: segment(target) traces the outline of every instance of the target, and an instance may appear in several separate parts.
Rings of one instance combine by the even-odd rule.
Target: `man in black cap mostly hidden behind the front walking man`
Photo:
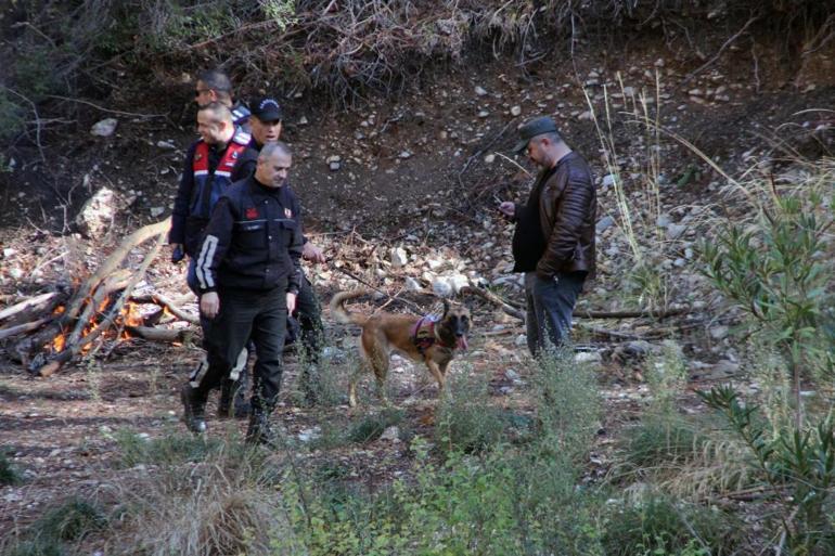
[[[252,109],[249,126],[253,135],[253,139],[249,142],[249,152],[257,153],[264,145],[274,143],[281,139],[284,115],[281,105],[272,96],[253,99],[249,102],[249,106]],[[235,172],[240,176],[251,176],[254,173],[256,168],[256,157],[252,157],[247,154],[239,161],[235,167]],[[290,184],[286,184],[285,188],[295,197],[295,193]],[[303,243],[301,258],[313,263],[325,262],[324,254],[319,247],[304,236]],[[316,403],[318,401],[318,388],[316,384],[318,377],[313,375],[316,374],[314,367],[319,363],[324,328],[322,326],[321,305],[313,292],[312,284],[310,284],[310,281],[304,275],[304,272],[301,273],[294,316],[297,319],[297,322],[291,318],[287,323],[288,341],[293,340],[294,333],[300,328],[301,345],[305,347],[306,354],[309,358],[307,361],[309,364],[303,367],[300,387],[305,393],[306,400],[309,403]]]

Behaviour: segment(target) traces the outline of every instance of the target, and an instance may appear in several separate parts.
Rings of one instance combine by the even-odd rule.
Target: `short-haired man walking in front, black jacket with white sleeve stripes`
[[[278,401],[287,311],[299,288],[298,201],[285,188],[292,165],[284,143],[265,145],[255,174],[235,182],[215,206],[197,255],[201,313],[211,319],[208,365],[183,386],[185,425],[206,430],[205,404],[252,338],[258,353],[247,442],[272,443],[269,415]]]

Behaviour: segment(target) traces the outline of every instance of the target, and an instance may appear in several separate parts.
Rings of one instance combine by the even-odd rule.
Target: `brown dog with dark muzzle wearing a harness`
[[[423,361],[438,382],[438,390],[441,390],[447,378],[447,366],[455,355],[455,350],[467,347],[470,310],[458,306],[451,308],[445,300],[444,314],[435,322],[428,315],[421,318],[381,312],[367,316],[345,309],[345,301],[364,294],[367,292],[362,289],[336,294],[331,300],[331,314],[337,322],[362,327],[360,358],[362,366],[371,367],[374,372],[380,398],[386,402],[388,360],[395,351],[412,361]],[[355,373],[348,389],[348,403],[351,406],[357,405],[358,382],[359,373]]]

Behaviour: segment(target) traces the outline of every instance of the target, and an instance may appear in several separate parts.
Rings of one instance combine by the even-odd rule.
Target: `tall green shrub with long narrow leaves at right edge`
[[[823,194],[832,173],[800,191],[768,191],[768,202],[749,225],[728,223],[715,242],[701,245],[704,273],[748,315],[755,332],[788,362],[794,383],[796,426],[802,419],[800,382],[817,367],[832,376],[835,335],[828,311],[832,263],[825,257],[825,231],[833,222]],[[826,177],[828,176],[828,180]],[[826,183],[828,181],[828,185]],[[761,185],[760,185],[761,186]],[[821,191],[823,189],[823,192]],[[814,373],[811,373],[812,375]],[[808,378],[812,378],[806,372]]]

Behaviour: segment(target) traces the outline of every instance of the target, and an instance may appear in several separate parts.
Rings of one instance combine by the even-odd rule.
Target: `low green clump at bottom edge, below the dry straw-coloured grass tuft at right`
[[[729,514],[652,495],[616,507],[603,534],[606,556],[733,554],[738,523]]]

